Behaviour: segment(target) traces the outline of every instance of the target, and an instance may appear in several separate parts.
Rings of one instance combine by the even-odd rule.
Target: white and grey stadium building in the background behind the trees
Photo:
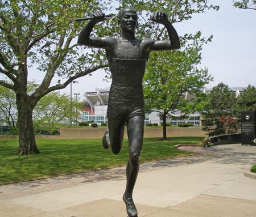
[[[240,93],[245,88],[242,87],[230,87],[230,90],[235,91],[236,95],[239,96]],[[209,93],[212,90],[212,87],[202,88],[201,91],[204,93]],[[82,108],[81,122],[96,122],[98,124],[107,123],[108,118],[106,117],[106,111],[108,109],[109,101],[109,88],[96,88],[92,92],[84,92],[84,101],[85,105]],[[188,93],[184,93],[184,98],[187,100],[195,97]],[[159,117],[158,112],[152,112],[146,114],[144,124],[158,124],[162,123],[162,119]],[[196,112],[193,114],[188,114],[187,118],[182,118],[183,114],[180,111],[172,113],[172,118],[167,119],[167,123],[170,125],[179,125],[181,123],[188,123],[195,126],[201,126],[201,114]]]

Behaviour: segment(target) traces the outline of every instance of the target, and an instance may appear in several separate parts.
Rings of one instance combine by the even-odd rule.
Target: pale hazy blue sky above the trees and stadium
[[[212,5],[219,5],[220,10],[208,10],[196,14],[192,19],[175,23],[179,35],[201,31],[204,37],[213,35],[213,40],[204,45],[201,67],[207,67],[213,76],[213,82],[207,87],[214,87],[223,82],[229,87],[247,87],[256,83],[256,11],[233,7],[232,0],[209,0]],[[76,79],[72,84],[73,93],[94,91],[95,88],[110,87],[104,81],[104,71],[98,70],[92,76]],[[61,92],[70,94],[70,84]]]

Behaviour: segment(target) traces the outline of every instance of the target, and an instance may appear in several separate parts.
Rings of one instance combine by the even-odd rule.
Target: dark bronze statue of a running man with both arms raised
[[[137,11],[130,7],[119,11],[118,23],[121,27],[121,36],[118,39],[109,36],[90,37],[94,25],[106,19],[102,12],[96,12],[93,18],[80,32],[78,43],[106,50],[112,74],[112,85],[107,111],[109,130],[102,138],[102,144],[104,148],[110,148],[114,154],[118,154],[122,149],[126,124],[129,138],[129,160],[126,167],[126,189],[123,201],[127,214],[137,217],[138,212],[133,202],[133,189],[139,172],[144,131],[142,79],[150,52],[179,49],[179,36],[164,12],[154,12],[151,20],[166,27],[170,40],[137,39],[135,29],[138,24],[138,15]]]

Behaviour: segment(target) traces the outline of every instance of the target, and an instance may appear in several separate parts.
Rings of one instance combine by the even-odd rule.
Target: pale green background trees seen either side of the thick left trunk
[[[28,93],[33,92],[39,84],[28,82]],[[80,98],[72,100],[72,117],[76,120],[76,109],[80,110],[82,104]],[[15,92],[0,86],[0,117],[8,126],[18,125]],[[80,113],[78,112],[78,116]],[[35,130],[38,128],[51,134],[63,124],[69,124],[71,117],[70,96],[65,93],[51,92],[42,97],[33,111],[33,123]]]

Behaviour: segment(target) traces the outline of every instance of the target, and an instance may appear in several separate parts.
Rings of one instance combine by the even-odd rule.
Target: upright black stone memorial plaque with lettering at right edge
[[[255,146],[256,113],[255,111],[241,112],[241,143]]]

